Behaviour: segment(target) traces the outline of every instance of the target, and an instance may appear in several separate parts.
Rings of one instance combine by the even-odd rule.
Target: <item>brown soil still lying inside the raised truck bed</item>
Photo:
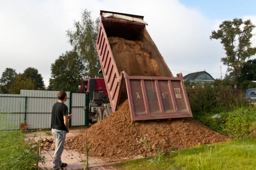
[[[161,76],[157,61],[143,42],[119,37],[109,37],[108,41],[119,73],[125,71],[129,76]]]

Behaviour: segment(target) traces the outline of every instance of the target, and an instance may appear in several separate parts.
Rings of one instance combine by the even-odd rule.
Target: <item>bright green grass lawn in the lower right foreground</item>
[[[158,164],[138,159],[113,165],[119,170],[253,170],[256,169],[255,139],[207,144],[162,156]]]

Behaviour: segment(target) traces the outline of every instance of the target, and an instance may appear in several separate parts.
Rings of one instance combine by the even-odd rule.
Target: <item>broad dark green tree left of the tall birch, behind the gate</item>
[[[77,91],[84,74],[84,64],[76,51],[66,51],[51,66],[48,90]]]

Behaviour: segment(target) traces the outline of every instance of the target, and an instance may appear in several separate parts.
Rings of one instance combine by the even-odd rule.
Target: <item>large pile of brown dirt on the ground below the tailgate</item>
[[[124,157],[147,156],[148,145],[153,153],[158,147],[183,149],[200,144],[229,140],[191,118],[134,122],[131,121],[129,103],[126,100],[118,111],[101,122],[84,130],[67,146],[84,152],[85,138],[91,156]]]

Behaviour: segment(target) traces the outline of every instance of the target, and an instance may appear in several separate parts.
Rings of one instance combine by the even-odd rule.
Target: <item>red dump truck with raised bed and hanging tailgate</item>
[[[92,103],[90,108],[93,109],[90,112],[96,113],[97,120],[100,121],[106,115],[117,111],[119,104],[125,99],[129,102],[132,121],[192,117],[183,76],[181,73],[177,77],[173,76],[146,29],[148,24],[143,20],[144,17],[111,11],[100,11],[100,17],[96,48],[105,81],[102,88],[108,93],[108,101],[102,98],[97,105]],[[128,56],[126,59],[131,61],[127,64],[120,56],[113,55],[109,42],[113,40],[112,37],[142,42],[148,55],[153,56],[157,62],[160,76],[137,75],[140,72],[138,67],[143,65],[138,65],[136,56],[133,59]],[[133,48],[133,45],[130,46],[129,48]],[[132,73],[135,67],[139,70]],[[153,68],[148,69],[150,71]],[[101,97],[104,96],[104,92],[99,91],[102,90],[91,91],[93,94],[90,101],[95,100],[93,96],[99,97],[99,93]]]

